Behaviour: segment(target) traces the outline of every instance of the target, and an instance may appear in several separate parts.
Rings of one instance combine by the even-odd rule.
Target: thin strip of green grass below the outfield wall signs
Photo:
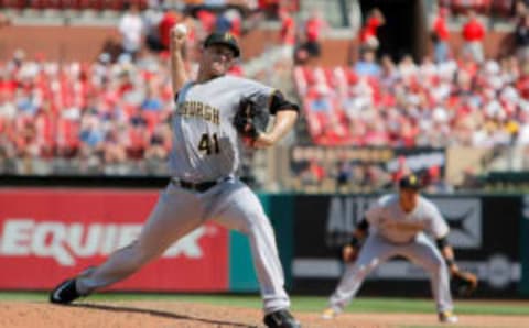
[[[248,308],[260,308],[261,299],[258,296],[248,295],[183,295],[183,294],[121,294],[105,293],[93,295],[88,298],[91,302],[116,302],[116,300],[163,300],[163,302],[186,302],[205,303],[223,306],[237,306]],[[1,293],[0,302],[46,302],[45,293]],[[292,309],[294,311],[321,311],[327,299],[314,296],[293,296]],[[501,302],[501,300],[455,300],[458,314],[481,315],[518,315],[529,316],[529,300],[525,302]],[[359,297],[354,304],[347,307],[348,313],[402,313],[420,314],[432,313],[434,304],[432,299],[414,298],[370,298]]]

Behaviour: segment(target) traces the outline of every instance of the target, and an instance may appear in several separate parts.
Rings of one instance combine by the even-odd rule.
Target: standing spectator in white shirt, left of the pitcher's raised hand
[[[127,7],[126,13],[119,21],[118,30],[121,33],[123,54],[134,59],[143,41],[143,20],[137,3],[128,3]]]

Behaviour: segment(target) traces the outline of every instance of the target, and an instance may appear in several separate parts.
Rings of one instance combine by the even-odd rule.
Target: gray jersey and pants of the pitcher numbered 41
[[[184,85],[173,118],[172,183],[138,240],[82,275],[76,285],[79,293],[123,280],[199,225],[214,220],[248,234],[264,313],[290,306],[270,221],[257,196],[234,176],[240,143],[231,122],[239,101],[250,97],[268,110],[272,94],[270,87],[233,76]],[[213,186],[197,192],[184,188],[184,182]]]

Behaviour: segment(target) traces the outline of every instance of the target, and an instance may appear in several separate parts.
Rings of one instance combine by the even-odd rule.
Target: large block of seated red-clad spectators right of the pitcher
[[[529,63],[516,56],[380,64],[365,52],[354,67],[295,68],[317,144],[493,146],[527,144]]]

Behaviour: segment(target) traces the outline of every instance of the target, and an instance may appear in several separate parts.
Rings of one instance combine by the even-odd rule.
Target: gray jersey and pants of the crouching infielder
[[[452,310],[446,264],[441,252],[424,233],[436,239],[449,233],[449,226],[435,205],[419,196],[417,207],[407,214],[400,207],[399,196],[388,195],[379,198],[366,212],[366,219],[369,222],[369,234],[358,259],[347,264],[331,296],[331,307],[341,311],[354,298],[369,272],[390,258],[401,255],[430,274],[438,311]]]

